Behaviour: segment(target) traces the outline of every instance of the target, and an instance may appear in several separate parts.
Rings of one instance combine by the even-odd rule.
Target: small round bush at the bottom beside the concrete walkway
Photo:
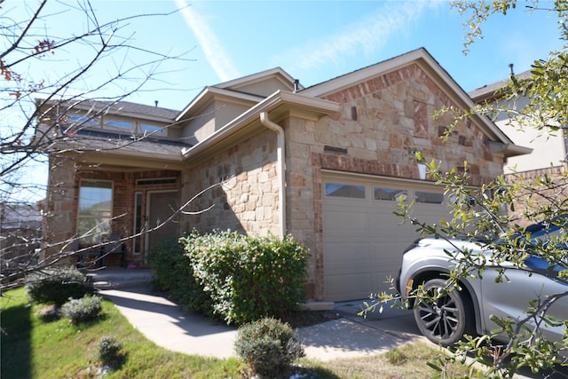
[[[288,375],[289,365],[304,357],[304,348],[288,324],[264,318],[239,328],[236,353],[261,377]]]

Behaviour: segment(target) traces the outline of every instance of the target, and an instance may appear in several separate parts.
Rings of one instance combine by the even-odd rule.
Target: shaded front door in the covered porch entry
[[[149,233],[146,240],[146,251],[154,248],[160,241],[176,238],[179,228],[179,216],[167,221],[179,209],[177,191],[148,193],[148,229],[158,227]]]

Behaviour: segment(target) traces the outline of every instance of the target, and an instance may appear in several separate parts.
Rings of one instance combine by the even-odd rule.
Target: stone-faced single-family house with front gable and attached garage
[[[106,105],[85,106],[97,114]],[[416,217],[438,223],[449,216],[444,188],[425,178],[416,151],[442,170],[467,160],[474,186],[530,151],[485,117],[472,117],[443,143],[453,118],[431,117],[442,106],[473,102],[418,49],[305,89],[274,68],[206,87],[181,112],[119,103],[94,122],[75,115],[81,138],[69,137],[68,146],[91,149],[51,156],[46,237],[70,238],[101,221],[104,230],[83,244],[105,233],[128,236],[228,179],[185,209],[213,208],[127,241],[127,262],[143,265],[157,241],[193,228],[289,233],[311,252],[310,298],[364,298],[387,289],[418,237],[392,213],[400,196],[415,201]],[[46,115],[38,129],[60,120]],[[64,121],[61,132],[73,134]],[[158,133],[138,141],[144,128]],[[112,146],[122,147],[105,150]]]

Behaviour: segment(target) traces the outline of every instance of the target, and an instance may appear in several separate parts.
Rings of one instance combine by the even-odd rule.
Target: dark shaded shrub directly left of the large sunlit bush
[[[209,294],[193,278],[189,258],[177,240],[164,240],[147,257],[154,271],[154,285],[177,301],[185,311],[212,313]]]

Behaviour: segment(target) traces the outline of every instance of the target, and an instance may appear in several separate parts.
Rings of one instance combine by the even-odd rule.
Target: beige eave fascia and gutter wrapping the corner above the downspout
[[[331,114],[339,112],[340,110],[340,105],[335,101],[309,98],[292,92],[276,91],[271,96],[264,99],[264,101],[256,104],[255,107],[251,107],[248,111],[233,119],[233,121],[226,123],[223,128],[217,130],[210,135],[209,138],[202,140],[200,143],[190,148],[182,149],[182,155],[185,159],[191,159],[193,156],[208,150],[210,147],[215,146],[218,142],[228,138],[237,131],[246,128],[252,122],[258,121],[261,112],[270,112],[283,105],[302,107],[322,114]]]

